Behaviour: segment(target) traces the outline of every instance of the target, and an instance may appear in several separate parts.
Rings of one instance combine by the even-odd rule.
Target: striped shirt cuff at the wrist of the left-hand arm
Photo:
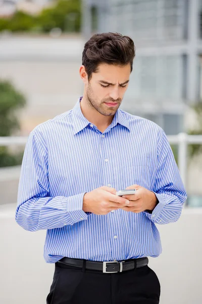
[[[83,211],[84,193],[76,194],[67,198],[67,212],[71,216],[73,222],[78,222],[87,219],[91,212]]]

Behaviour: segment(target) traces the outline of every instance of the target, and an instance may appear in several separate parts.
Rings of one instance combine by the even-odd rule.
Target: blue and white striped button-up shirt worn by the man
[[[159,203],[152,213],[82,210],[86,192],[133,184],[156,194]],[[72,110],[30,133],[16,221],[25,230],[47,230],[44,258],[49,263],[64,256],[94,261],[158,256],[156,223],[176,221],[185,200],[172,150],[158,125],[118,109],[102,133],[83,116],[79,99]]]

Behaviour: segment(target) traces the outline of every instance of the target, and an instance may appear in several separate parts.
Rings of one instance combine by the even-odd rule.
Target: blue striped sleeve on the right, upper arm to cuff
[[[144,211],[144,214],[158,224],[177,221],[187,195],[172,149],[162,129],[159,133],[156,180],[150,191],[154,192],[159,202],[151,213]]]

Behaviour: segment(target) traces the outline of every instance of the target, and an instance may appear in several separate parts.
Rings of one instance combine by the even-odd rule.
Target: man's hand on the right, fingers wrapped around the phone
[[[122,207],[123,210],[139,213],[145,210],[153,211],[157,206],[158,199],[154,192],[139,185],[132,185],[126,189],[136,189],[136,193],[122,196],[122,198],[126,198],[130,201],[130,204],[127,207]]]

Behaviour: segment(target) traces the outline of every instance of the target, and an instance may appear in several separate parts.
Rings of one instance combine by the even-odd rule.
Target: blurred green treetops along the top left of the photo
[[[43,9],[38,16],[17,11],[10,19],[0,19],[0,31],[49,32],[54,27],[62,31],[79,32],[81,0],[59,0],[53,7]]]

